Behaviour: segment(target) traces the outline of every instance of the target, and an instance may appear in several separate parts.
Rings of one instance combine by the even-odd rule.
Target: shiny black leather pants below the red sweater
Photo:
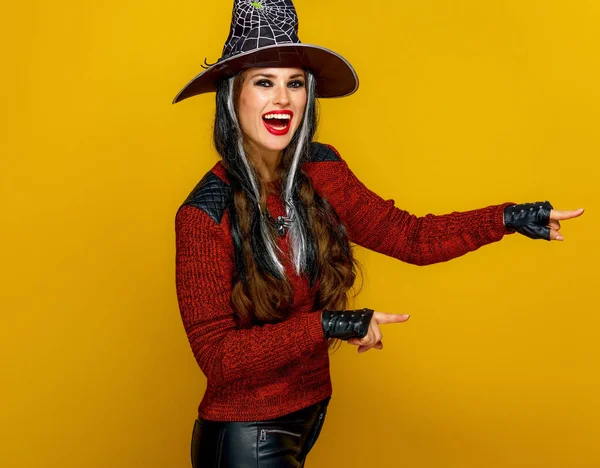
[[[331,397],[279,418],[194,422],[193,468],[298,468],[317,441]]]

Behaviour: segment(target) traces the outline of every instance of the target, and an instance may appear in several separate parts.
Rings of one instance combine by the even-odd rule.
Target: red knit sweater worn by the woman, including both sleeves
[[[327,149],[329,148],[329,149]],[[305,163],[315,190],[328,200],[355,244],[415,265],[445,262],[499,241],[507,231],[503,210],[513,202],[446,215],[417,217],[363,185],[337,151]],[[211,169],[227,182],[221,162]],[[269,195],[276,218],[282,200]],[[182,206],[175,218],[177,297],[194,356],[207,378],[198,408],[215,421],[270,419],[310,406],[331,395],[329,356],[316,288],[295,275],[282,258],[294,288],[290,317],[276,324],[239,329],[230,304],[234,251],[226,210],[218,224],[195,206]],[[279,237],[283,252],[288,235]]]

